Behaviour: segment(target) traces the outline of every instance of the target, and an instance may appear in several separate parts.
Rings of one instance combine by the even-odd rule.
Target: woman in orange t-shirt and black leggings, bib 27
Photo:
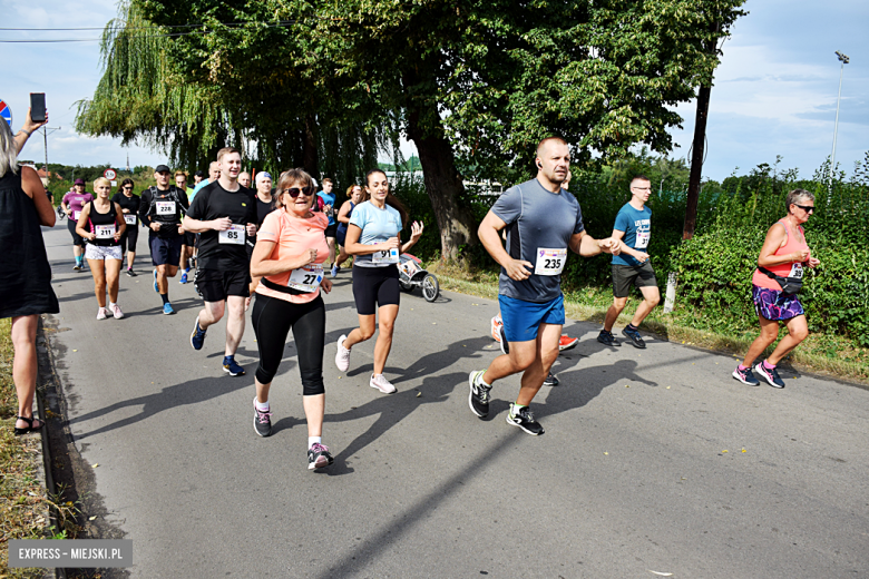
[[[332,282],[323,275],[329,218],[311,212],[314,187],[311,176],[301,169],[281,175],[275,196],[277,208],[265,216],[251,257],[251,275],[261,277],[251,315],[260,349],[254,430],[260,436],[272,433],[268,390],[292,330],[307,420],[307,469],[322,469],[333,462],[322,441],[325,305],[320,290],[332,290]]]

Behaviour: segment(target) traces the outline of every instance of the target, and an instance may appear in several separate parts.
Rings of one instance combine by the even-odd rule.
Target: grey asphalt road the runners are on
[[[146,242],[121,276],[121,321],[98,322],[66,224],[46,230],[61,313],[49,320],[70,429],[92,469],[100,520],[134,541],[134,577],[814,578],[869,576],[869,391],[785,372],[749,387],[732,356],[651,337],[606,347],[593,324],[533,410],[546,434],[489,420],[468,373],[497,353],[497,304],[403,295],[387,376],[373,340],[340,373],[334,341],[357,324],[350,274],[326,301],[326,422],[335,464],[306,469],[292,340],[272,387],[274,434],[253,430],[257,363],[247,327],[221,369],[223,325],[195,352],[201,306],[172,282],[160,313]],[[577,257],[574,257],[577,258]]]

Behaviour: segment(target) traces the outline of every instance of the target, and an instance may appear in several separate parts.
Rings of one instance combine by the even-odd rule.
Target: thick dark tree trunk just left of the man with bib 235
[[[439,118],[437,110],[426,111],[427,118]],[[476,245],[477,225],[471,213],[461,205],[465,185],[456,170],[455,157],[443,130],[438,127],[426,131],[420,127],[419,109],[408,115],[408,136],[419,151],[426,192],[431,199],[431,208],[440,229],[441,257],[457,259],[462,245]]]

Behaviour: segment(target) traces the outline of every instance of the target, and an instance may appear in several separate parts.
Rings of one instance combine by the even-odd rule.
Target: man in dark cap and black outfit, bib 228
[[[154,169],[156,187],[141,192],[139,219],[148,232],[150,261],[154,263],[154,291],[163,298],[163,313],[174,314],[169,303],[169,277],[175,277],[184,245],[182,217],[187,213],[187,193],[169,185],[172,173],[166,165]]]

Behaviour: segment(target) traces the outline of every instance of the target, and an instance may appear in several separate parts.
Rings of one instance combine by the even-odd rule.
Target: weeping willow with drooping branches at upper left
[[[232,145],[248,166],[304,167],[339,186],[359,183],[379,150],[400,157],[394,116],[372,124],[362,111],[332,108],[330,94],[342,87],[293,40],[293,26],[303,24],[263,22],[250,11],[226,24],[197,6],[178,14],[172,4],[157,13],[140,0],[119,4],[102,33],[102,77],[92,98],[78,102],[79,133],[144,143],[189,168]],[[202,23],[177,32],[155,20]]]

